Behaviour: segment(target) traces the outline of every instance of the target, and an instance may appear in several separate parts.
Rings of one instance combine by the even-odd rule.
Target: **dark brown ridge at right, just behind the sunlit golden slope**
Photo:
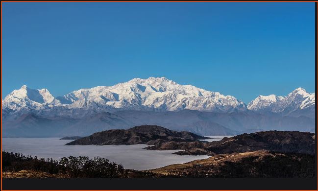
[[[221,141],[168,142],[148,146],[151,150],[183,149],[179,155],[216,155],[234,152],[250,152],[261,149],[276,152],[315,153],[315,134],[299,131],[263,131],[223,138]]]

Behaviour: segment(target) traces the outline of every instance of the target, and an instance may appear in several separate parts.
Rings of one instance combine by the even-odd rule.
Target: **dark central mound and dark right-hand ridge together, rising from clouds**
[[[127,130],[108,130],[94,133],[67,145],[75,144],[148,144],[151,150],[178,150],[179,155],[216,155],[235,152],[270,150],[282,153],[315,153],[315,134],[299,131],[262,131],[245,133],[220,141],[186,131],[172,131],[156,125],[136,126]]]

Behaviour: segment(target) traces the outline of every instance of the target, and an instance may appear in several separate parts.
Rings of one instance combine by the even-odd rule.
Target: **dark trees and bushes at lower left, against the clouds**
[[[51,158],[37,158],[21,153],[2,151],[2,171],[17,172],[20,170],[33,170],[47,172],[49,174],[67,174],[72,178],[94,177],[124,177],[125,170],[121,164],[109,162],[109,160],[95,157],[69,156],[60,161]]]

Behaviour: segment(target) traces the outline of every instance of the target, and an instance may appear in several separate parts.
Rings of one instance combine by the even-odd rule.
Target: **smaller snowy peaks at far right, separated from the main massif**
[[[297,88],[287,96],[259,95],[248,104],[247,108],[253,111],[270,111],[288,115],[314,105],[315,94],[310,94],[303,88]]]

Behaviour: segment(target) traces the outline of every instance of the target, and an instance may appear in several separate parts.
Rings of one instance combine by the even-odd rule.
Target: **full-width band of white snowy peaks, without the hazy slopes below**
[[[252,110],[290,114],[296,110],[315,107],[315,94],[302,88],[287,96],[259,95],[247,106],[231,95],[221,95],[192,85],[180,85],[165,77],[134,78],[114,86],[80,89],[54,97],[47,89],[33,90],[25,85],[2,100],[7,113],[50,112],[63,110],[88,111],[179,111],[184,109],[232,112]]]

